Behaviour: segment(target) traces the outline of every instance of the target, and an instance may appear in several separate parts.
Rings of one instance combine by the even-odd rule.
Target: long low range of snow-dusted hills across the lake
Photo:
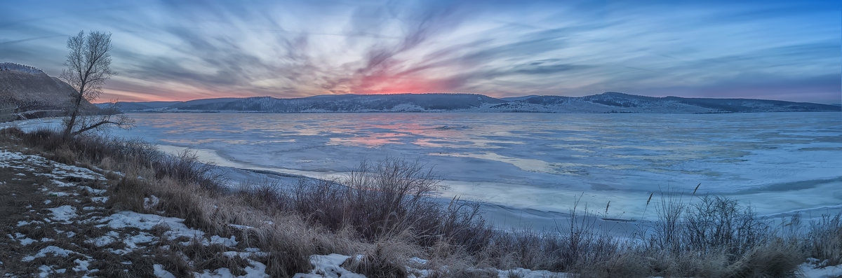
[[[106,105],[106,104],[98,104]],[[757,113],[840,111],[834,105],[742,98],[644,97],[605,92],[585,97],[494,98],[478,94],[322,95],[301,98],[208,98],[187,102],[117,102],[124,112],[535,112]]]

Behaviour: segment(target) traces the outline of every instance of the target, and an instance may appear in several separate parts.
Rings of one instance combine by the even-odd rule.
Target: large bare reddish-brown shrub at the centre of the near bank
[[[432,246],[441,237],[472,250],[490,239],[479,210],[456,198],[442,207],[430,196],[440,189],[431,171],[417,162],[387,159],[361,163],[340,181],[304,181],[293,186],[287,207],[331,230],[353,228],[364,239],[388,239],[412,231],[415,244]]]

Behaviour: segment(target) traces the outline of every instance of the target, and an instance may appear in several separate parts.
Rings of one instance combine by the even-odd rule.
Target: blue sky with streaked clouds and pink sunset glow
[[[58,76],[112,34],[100,101],[626,92],[842,102],[833,1],[2,1],[0,62]]]

